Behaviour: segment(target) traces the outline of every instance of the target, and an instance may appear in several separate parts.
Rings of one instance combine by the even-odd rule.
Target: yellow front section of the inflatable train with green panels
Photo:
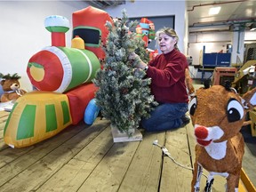
[[[55,92],[28,92],[16,100],[4,127],[12,148],[48,139],[72,124],[68,97]]]

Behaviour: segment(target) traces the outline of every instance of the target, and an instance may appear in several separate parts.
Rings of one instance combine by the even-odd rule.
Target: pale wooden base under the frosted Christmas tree
[[[114,142],[131,142],[131,141],[140,141],[142,140],[142,134],[140,130],[135,129],[132,136],[128,136],[126,132],[120,132],[115,126],[110,125],[111,132]]]

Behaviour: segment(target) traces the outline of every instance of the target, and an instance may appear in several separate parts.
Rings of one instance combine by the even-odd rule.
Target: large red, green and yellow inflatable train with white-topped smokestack
[[[58,15],[44,21],[45,28],[52,33],[52,46],[28,61],[27,74],[35,91],[16,100],[7,119],[4,142],[12,148],[33,145],[70,124],[78,124],[95,96],[97,87],[92,78],[100,69],[100,60],[105,58],[101,48],[108,36],[105,23],[112,20],[107,12],[92,6],[73,12],[72,20],[71,48],[65,43],[69,21]]]

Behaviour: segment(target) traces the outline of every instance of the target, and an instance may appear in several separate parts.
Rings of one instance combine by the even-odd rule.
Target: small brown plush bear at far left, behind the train
[[[18,76],[17,73],[13,74],[12,76],[10,74],[5,76],[0,74],[0,77],[1,85],[4,91],[4,94],[2,94],[0,98],[1,102],[17,100],[20,96],[26,93],[26,91],[20,89],[20,76]]]

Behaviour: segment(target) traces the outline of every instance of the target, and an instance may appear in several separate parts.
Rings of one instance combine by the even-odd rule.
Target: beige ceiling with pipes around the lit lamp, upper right
[[[209,15],[209,9],[220,6],[220,12]],[[190,1],[187,0],[189,33],[250,30],[256,27],[256,1]]]

